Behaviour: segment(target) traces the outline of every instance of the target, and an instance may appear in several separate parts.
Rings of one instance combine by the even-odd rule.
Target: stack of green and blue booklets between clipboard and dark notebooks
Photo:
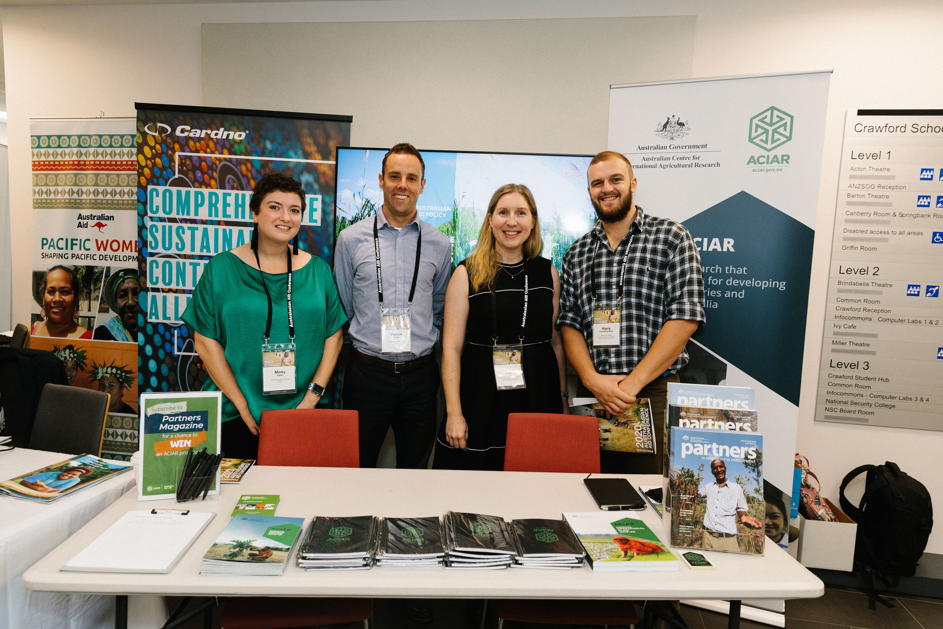
[[[301,538],[304,518],[236,516],[203,555],[201,574],[277,576]]]

